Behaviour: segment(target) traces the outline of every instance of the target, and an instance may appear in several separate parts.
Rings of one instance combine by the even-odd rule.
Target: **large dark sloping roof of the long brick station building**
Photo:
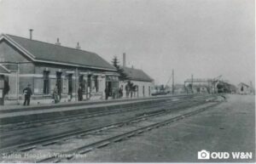
[[[26,54],[35,62],[51,62],[64,65],[80,65],[95,69],[104,69],[115,71],[113,65],[110,65],[98,54],[77,48],[67,48],[48,42],[41,42],[24,37],[12,35],[3,35],[14,42],[16,46],[23,49]]]

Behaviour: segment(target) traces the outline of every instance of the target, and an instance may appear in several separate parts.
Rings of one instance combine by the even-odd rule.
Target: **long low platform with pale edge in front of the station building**
[[[53,119],[63,116],[72,116],[79,114],[90,114],[97,111],[106,111],[110,109],[124,108],[134,105],[143,105],[147,103],[165,101],[166,99],[183,98],[187,95],[169,95],[141,99],[113,99],[102,101],[87,101],[76,103],[61,103],[56,105],[32,105],[32,106],[4,106],[0,110],[1,125],[33,122],[44,119]],[[2,107],[2,106],[1,106]]]

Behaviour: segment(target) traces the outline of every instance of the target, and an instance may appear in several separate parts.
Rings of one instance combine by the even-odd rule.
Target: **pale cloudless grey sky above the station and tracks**
[[[95,52],[158,84],[194,78],[255,83],[253,0],[0,0],[0,33]],[[72,54],[71,54],[72,58]]]

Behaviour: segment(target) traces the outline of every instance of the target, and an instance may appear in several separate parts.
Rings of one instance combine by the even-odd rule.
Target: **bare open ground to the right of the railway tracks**
[[[255,162],[255,97],[229,95],[228,101],[196,116],[110,144],[73,162],[207,162],[200,150],[252,152],[253,159],[210,160]],[[71,161],[69,161],[71,162]]]

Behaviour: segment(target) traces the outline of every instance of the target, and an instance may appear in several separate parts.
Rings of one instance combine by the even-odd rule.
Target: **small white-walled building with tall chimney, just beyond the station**
[[[125,66],[125,54],[123,54],[123,67],[127,80],[119,82],[119,88],[123,88],[123,97],[148,97],[151,96],[154,80],[144,71]],[[133,84],[134,90],[129,88],[129,82]]]

